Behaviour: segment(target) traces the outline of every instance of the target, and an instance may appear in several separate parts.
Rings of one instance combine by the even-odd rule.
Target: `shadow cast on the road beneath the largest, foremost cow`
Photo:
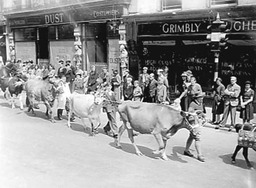
[[[109,143],[110,146],[112,146],[113,148],[115,147],[115,143]],[[133,147],[132,144],[127,144],[127,143],[121,143],[122,146],[122,151],[127,152],[127,153],[131,153],[131,154],[135,154],[135,149]],[[153,158],[153,159],[159,159],[160,155],[158,154],[153,154],[153,150],[147,147],[144,147],[142,145],[137,145],[137,147],[139,148],[139,150],[147,157]],[[184,147],[174,147],[172,149],[174,154],[171,155],[167,155],[168,158],[170,158],[170,160],[172,161],[178,161],[181,163],[187,163],[187,161],[183,160],[181,157],[179,157],[177,155],[177,153],[183,153],[184,151]]]

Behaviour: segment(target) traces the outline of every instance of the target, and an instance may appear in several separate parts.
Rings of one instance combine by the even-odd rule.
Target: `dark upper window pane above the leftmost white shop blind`
[[[35,28],[22,28],[14,30],[15,41],[35,40]]]

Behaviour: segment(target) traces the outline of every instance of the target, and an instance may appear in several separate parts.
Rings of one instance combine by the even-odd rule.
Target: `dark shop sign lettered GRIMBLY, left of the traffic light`
[[[139,24],[139,35],[200,34],[207,32],[207,22]]]

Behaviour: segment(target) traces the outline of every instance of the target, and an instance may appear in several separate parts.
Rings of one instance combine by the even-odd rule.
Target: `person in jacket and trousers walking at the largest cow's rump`
[[[109,83],[106,84],[106,91],[105,91],[105,100],[103,102],[103,112],[107,113],[109,119],[109,126],[113,132],[114,139],[117,139],[118,136],[118,127],[115,120],[115,116],[117,113],[117,102],[115,99],[115,94],[112,91],[112,85]],[[104,128],[105,129],[105,128]]]

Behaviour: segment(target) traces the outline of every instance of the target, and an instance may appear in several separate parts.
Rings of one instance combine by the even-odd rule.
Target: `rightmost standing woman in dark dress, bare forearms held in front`
[[[251,82],[245,82],[245,91],[240,97],[241,100],[241,112],[240,118],[243,119],[243,123],[250,123],[253,119],[253,97],[254,90],[251,89]]]

